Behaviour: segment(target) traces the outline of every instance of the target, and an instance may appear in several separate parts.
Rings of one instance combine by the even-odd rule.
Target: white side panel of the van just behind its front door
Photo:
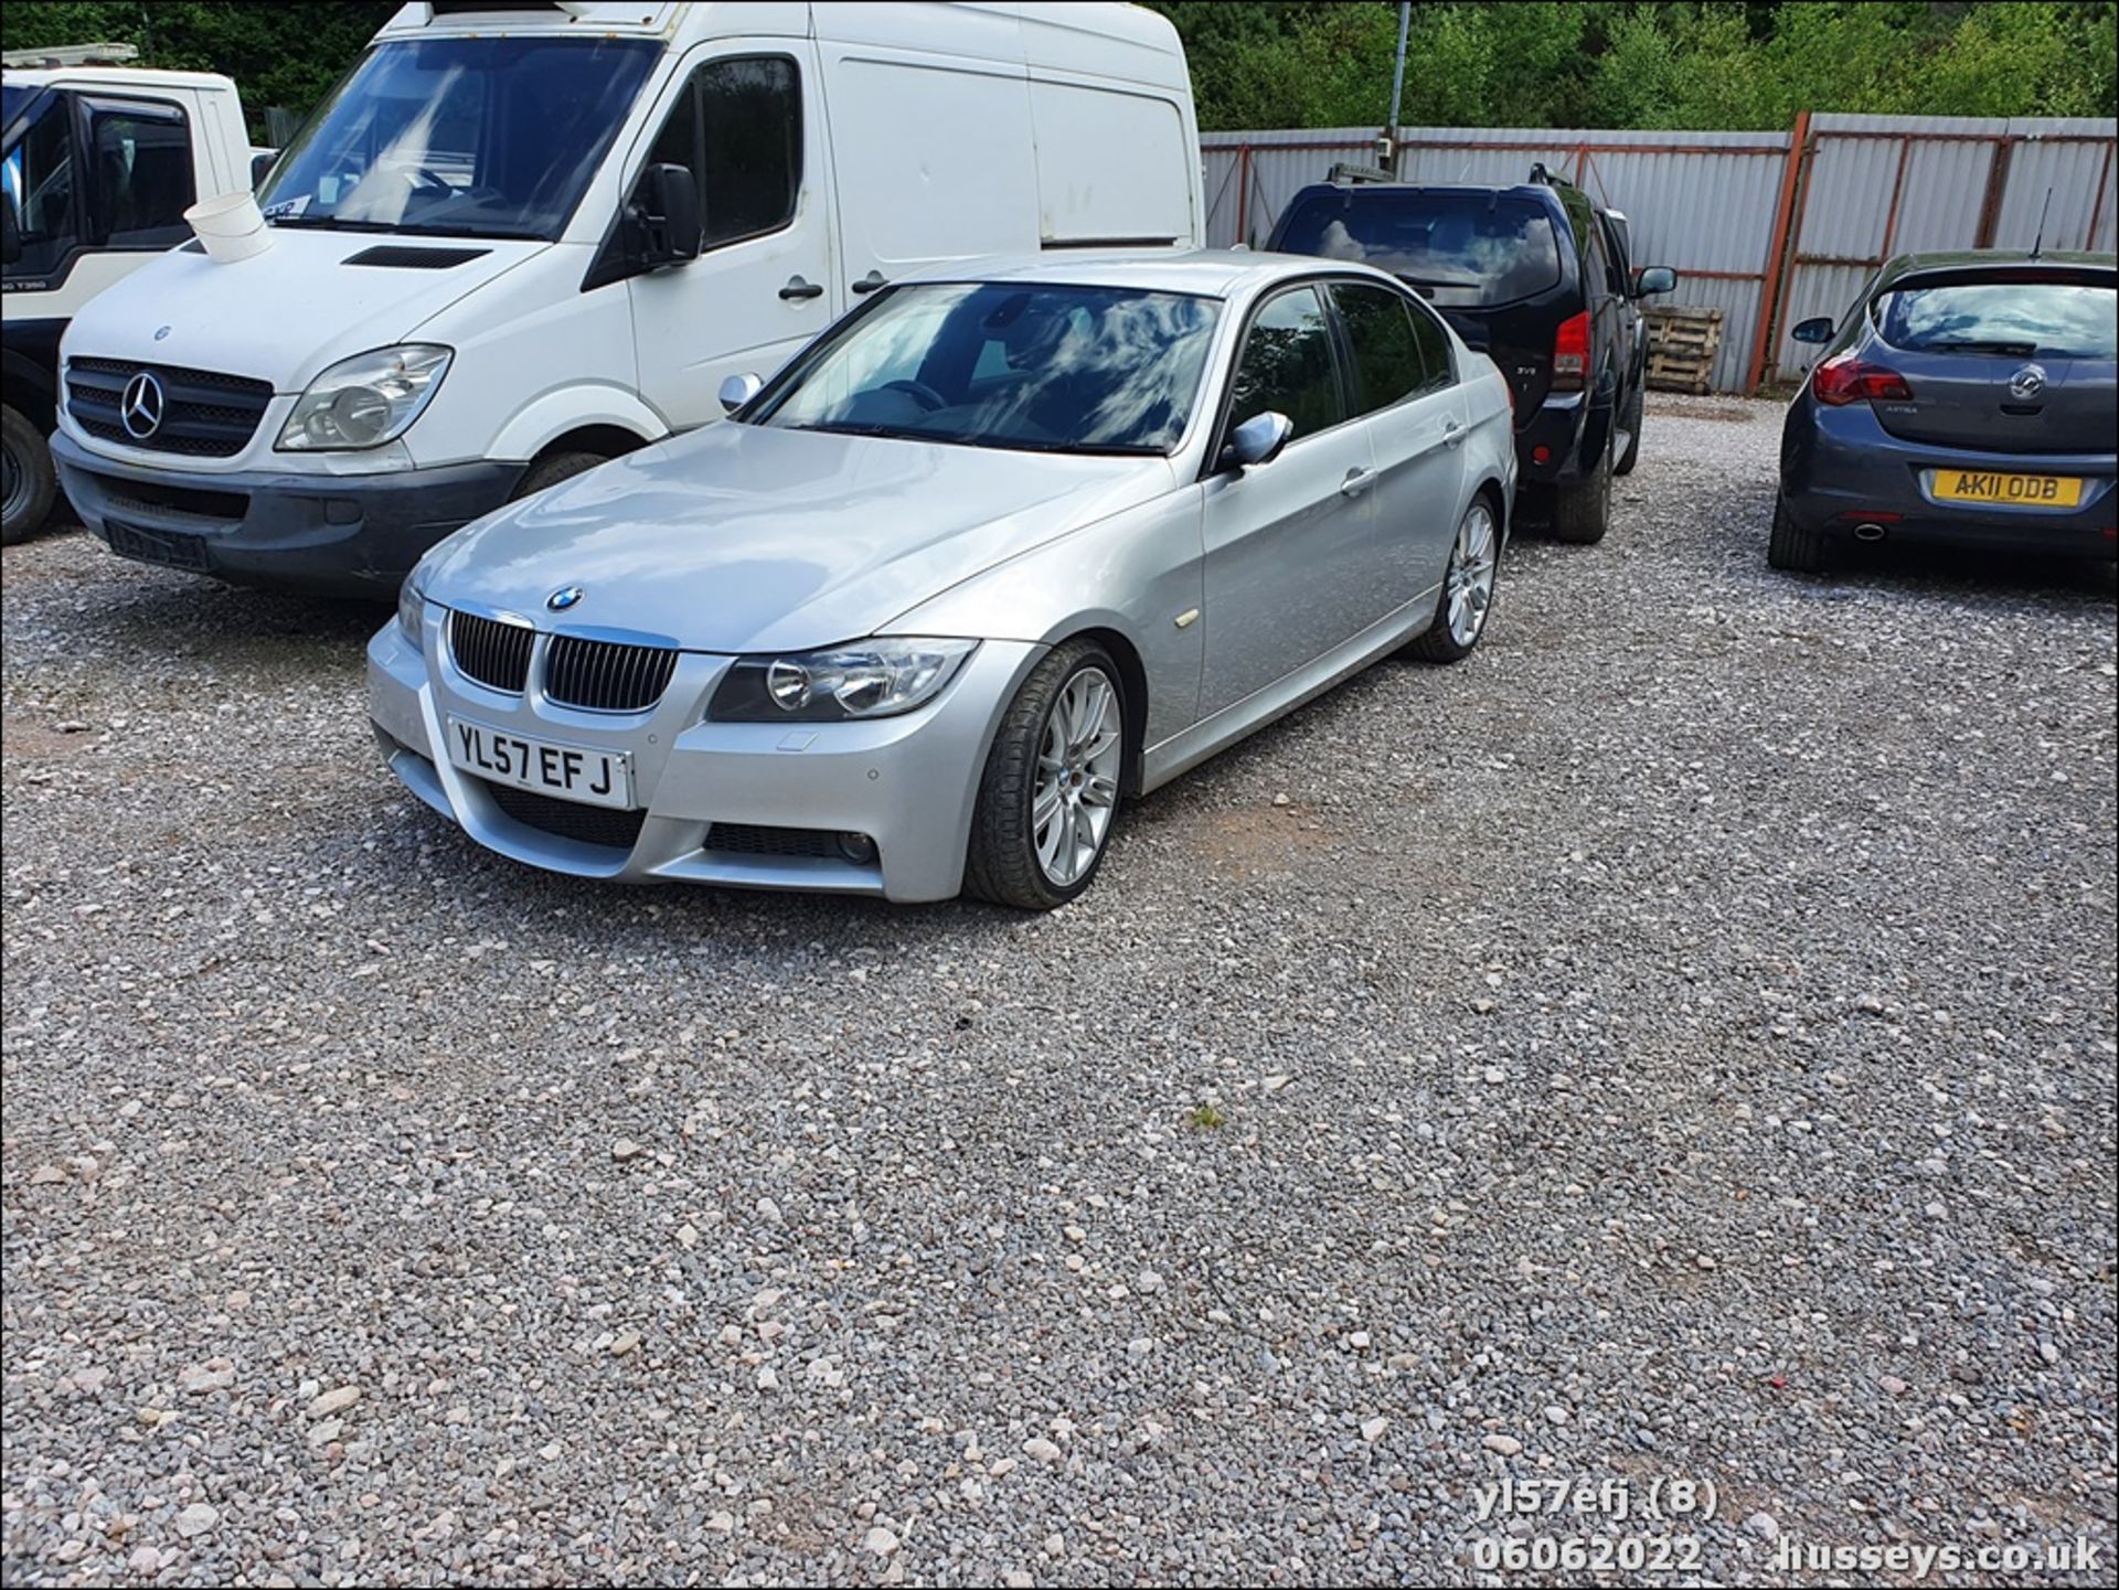
[[[1028,93],[1021,68],[882,53],[829,64],[848,279],[1038,246]]]

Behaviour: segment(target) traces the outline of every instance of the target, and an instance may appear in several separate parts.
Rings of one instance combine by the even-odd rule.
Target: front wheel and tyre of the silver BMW
[[[971,819],[964,889],[1051,910],[1089,887],[1119,821],[1125,690],[1096,642],[1055,646],[994,735]]]

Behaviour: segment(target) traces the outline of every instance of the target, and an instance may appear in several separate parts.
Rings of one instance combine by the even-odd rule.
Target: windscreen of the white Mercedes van
[[[655,64],[644,38],[369,51],[259,195],[275,227],[555,239]]]

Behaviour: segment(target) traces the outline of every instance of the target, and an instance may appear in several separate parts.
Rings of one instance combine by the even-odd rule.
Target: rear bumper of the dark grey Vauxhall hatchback
[[[2058,474],[2083,483],[2072,508],[1947,502],[1937,470]],[[1829,540],[1916,540],[1990,550],[2119,559],[2113,453],[1988,453],[1892,436],[1865,402],[1820,406],[1803,392],[1780,445],[1780,500]]]

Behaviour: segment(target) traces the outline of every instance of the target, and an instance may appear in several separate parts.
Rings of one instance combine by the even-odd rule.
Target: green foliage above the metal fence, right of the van
[[[1379,127],[1394,4],[1151,0],[1185,36],[1199,125]],[[1426,0],[1411,127],[1786,127],[1797,110],[2111,116],[2111,0]]]

